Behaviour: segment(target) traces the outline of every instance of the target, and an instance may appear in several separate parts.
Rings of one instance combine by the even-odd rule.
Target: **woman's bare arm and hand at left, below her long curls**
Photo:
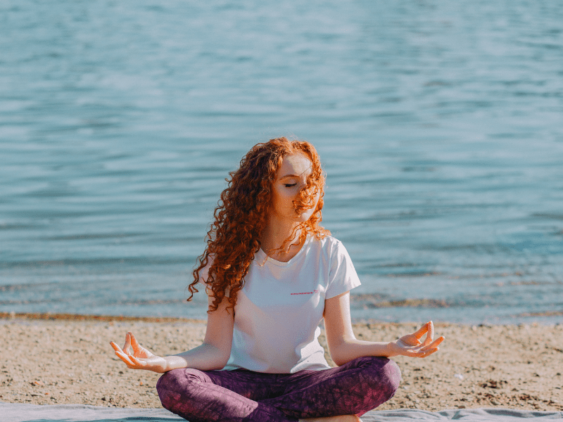
[[[209,304],[213,298],[208,296]],[[231,354],[234,314],[227,311],[225,299],[214,312],[208,314],[203,343],[194,349],[167,357],[160,357],[141,347],[132,333],[125,336],[121,349],[111,342],[115,354],[131,369],[147,369],[163,373],[178,368],[193,368],[201,371],[222,369]],[[131,354],[131,348],[133,354]]]

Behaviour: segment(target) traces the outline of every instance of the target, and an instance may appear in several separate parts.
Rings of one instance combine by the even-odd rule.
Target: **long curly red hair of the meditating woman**
[[[317,207],[306,222],[298,224],[293,234],[279,248],[284,249],[299,232],[299,240],[311,234],[319,239],[330,232],[320,225],[324,196],[324,173],[315,147],[307,141],[289,141],[282,137],[258,143],[243,157],[239,170],[229,173],[227,188],[222,191],[213,214],[214,222],[205,237],[207,245],[198,257],[194,269],[194,281],[189,285],[190,296],[198,292],[201,270],[208,267],[204,277],[206,289],[210,289],[213,302],[208,312],[215,311],[227,296],[228,309],[234,309],[236,295],[243,288],[254,255],[260,250],[260,235],[266,226],[270,210],[271,189],[276,173],[285,155],[303,153],[312,162],[312,172],[307,184],[300,189],[293,201],[296,212],[310,209],[315,196]]]

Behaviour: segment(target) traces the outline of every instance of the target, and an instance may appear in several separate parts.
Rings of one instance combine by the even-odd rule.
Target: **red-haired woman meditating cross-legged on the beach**
[[[388,357],[429,356],[443,337],[429,322],[391,343],[355,338],[349,291],[360,281],[320,225],[324,174],[310,143],[259,143],[230,176],[189,286],[188,300],[198,283],[208,294],[203,344],[159,357],[127,333],[115,354],[165,373],[163,406],[191,422],[360,421],[398,388]],[[322,319],[336,368],[317,340]]]

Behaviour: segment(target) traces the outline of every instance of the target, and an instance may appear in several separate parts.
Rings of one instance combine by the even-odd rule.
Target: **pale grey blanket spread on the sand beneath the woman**
[[[455,409],[424,411],[398,409],[369,411],[362,416],[364,422],[435,422],[462,420],[463,422],[524,422],[524,418],[538,420],[562,419],[561,411],[529,411],[515,409]],[[35,404],[0,402],[0,422],[185,422],[165,409],[122,409],[97,407],[85,404]],[[531,422],[531,421],[529,421]]]

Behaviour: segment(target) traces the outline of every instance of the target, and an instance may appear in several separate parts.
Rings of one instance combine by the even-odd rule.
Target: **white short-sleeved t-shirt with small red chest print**
[[[259,250],[236,296],[231,357],[224,369],[295,373],[329,368],[317,340],[324,300],[360,286],[346,248],[308,236],[289,262]]]

